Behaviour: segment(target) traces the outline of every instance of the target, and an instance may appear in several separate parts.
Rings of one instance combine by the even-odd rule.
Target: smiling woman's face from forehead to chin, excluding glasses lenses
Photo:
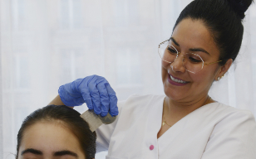
[[[194,48],[203,48],[201,50],[207,51],[209,54],[201,50],[196,50],[195,53],[204,56],[206,63],[218,61],[219,50],[210,32],[203,22],[185,19],[175,27],[170,42],[170,45],[174,46],[180,52],[180,55],[172,63],[162,60],[162,78],[165,94],[170,99],[179,101],[182,99],[183,102],[188,100],[198,101],[206,97],[217,74],[217,70],[220,68],[219,65],[204,66],[204,70],[194,74],[186,70],[194,70],[194,68],[185,68],[184,59],[181,55],[191,53],[190,50]],[[189,60],[188,58],[187,62]],[[192,64],[198,65],[197,63]],[[189,66],[191,67],[191,65]]]

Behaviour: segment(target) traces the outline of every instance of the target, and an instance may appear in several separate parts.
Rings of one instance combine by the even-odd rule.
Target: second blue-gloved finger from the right
[[[106,86],[103,82],[100,82],[96,85],[96,88],[99,91],[101,99],[101,116],[105,117],[110,108],[110,100],[107,94]]]

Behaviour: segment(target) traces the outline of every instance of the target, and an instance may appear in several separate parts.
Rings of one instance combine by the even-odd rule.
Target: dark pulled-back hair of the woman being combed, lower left
[[[25,118],[17,133],[17,156],[23,134],[26,133],[27,128],[38,122],[61,121],[78,138],[86,159],[95,158],[96,132],[91,132],[88,123],[80,115],[76,110],[64,105],[48,105],[37,109]]]

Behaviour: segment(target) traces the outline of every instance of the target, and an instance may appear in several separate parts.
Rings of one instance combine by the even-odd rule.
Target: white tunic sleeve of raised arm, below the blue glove
[[[117,103],[119,114],[121,113],[122,105],[124,103],[125,101]],[[100,128],[96,129],[96,152],[103,152],[108,150],[111,136],[116,128],[116,123],[118,119],[119,116],[117,116],[116,121],[114,123],[108,125],[102,124]]]

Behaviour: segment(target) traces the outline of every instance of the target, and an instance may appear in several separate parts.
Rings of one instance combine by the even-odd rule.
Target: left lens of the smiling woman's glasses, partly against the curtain
[[[165,62],[173,62],[175,61],[178,51],[175,49],[174,46],[170,45],[170,41],[165,41],[159,47],[159,55],[162,60]]]

